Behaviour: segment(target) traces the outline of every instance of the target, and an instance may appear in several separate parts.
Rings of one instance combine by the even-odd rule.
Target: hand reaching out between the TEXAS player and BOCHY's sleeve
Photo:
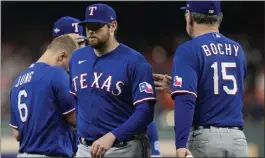
[[[155,89],[157,91],[166,91],[168,93],[172,92],[171,84],[172,84],[172,77],[168,76],[167,74],[153,74]]]

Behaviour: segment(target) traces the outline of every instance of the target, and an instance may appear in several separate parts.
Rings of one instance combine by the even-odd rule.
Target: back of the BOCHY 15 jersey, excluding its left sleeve
[[[242,47],[219,33],[191,41],[199,59],[193,125],[243,126],[246,64]]]

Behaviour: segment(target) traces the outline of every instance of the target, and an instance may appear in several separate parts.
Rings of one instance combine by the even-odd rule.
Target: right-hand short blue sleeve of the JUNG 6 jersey
[[[57,69],[52,78],[52,87],[55,91],[59,109],[63,115],[75,110],[74,98],[69,93],[69,77],[63,69]]]

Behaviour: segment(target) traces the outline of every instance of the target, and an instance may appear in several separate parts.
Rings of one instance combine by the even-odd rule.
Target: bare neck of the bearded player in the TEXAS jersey
[[[112,38],[102,48],[94,49],[95,50],[95,54],[98,57],[103,56],[105,54],[108,54],[108,53],[112,52],[118,46],[119,46],[119,42],[115,38]]]

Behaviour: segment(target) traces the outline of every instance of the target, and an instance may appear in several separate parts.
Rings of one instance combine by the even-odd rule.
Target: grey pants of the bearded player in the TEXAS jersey
[[[76,157],[92,157],[91,146],[84,144],[78,145]],[[104,157],[150,157],[151,150],[149,140],[146,136],[136,138],[126,142],[122,147],[111,147],[104,155]]]

